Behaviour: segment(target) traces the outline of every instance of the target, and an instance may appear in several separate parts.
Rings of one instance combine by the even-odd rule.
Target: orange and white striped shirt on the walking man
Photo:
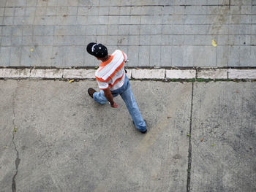
[[[127,61],[127,54],[121,50],[116,50],[108,61],[100,64],[99,69],[95,72],[95,77],[99,89],[110,88],[114,91],[124,85],[124,62]]]

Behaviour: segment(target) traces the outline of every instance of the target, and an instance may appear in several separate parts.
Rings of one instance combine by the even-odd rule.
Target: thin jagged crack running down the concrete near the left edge
[[[15,88],[15,93],[13,94],[13,99],[12,99],[12,114],[13,114],[13,119],[12,119],[12,124],[14,126],[13,128],[13,132],[12,132],[12,144],[14,145],[15,147],[15,151],[16,151],[16,159],[15,159],[15,168],[16,168],[16,172],[15,174],[13,175],[12,177],[12,192],[15,192],[16,191],[16,182],[15,182],[15,177],[17,176],[18,174],[18,166],[20,164],[20,158],[19,158],[19,152],[18,152],[18,149],[17,149],[17,146],[14,142],[14,139],[15,139],[15,132],[17,131],[17,126],[15,124],[15,118],[16,118],[16,115],[15,115],[15,99],[16,99],[16,95],[17,95],[17,91],[18,91],[18,82],[17,82],[17,86]]]

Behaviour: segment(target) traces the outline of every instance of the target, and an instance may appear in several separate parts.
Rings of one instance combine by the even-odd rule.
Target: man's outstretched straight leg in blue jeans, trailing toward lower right
[[[120,96],[124,100],[125,104],[127,105],[127,109],[129,111],[129,114],[132,116],[132,120],[135,123],[135,127],[142,132],[146,131],[145,120],[143,120],[140,114],[140,110],[135,101],[130,85],[127,86],[126,91],[124,91],[123,93],[120,93]]]

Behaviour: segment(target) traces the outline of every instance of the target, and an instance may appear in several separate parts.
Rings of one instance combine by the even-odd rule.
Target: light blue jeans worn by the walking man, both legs
[[[131,85],[129,79],[125,74],[124,85],[121,88],[111,91],[113,97],[118,95],[121,96],[121,99],[124,100],[124,103],[127,105],[129,115],[132,116],[132,120],[135,123],[135,127],[140,131],[146,131],[146,123],[143,120],[138,105],[136,104],[135,98],[132,93]],[[97,101],[99,104],[105,104],[108,99],[106,99],[104,91],[99,91],[94,93],[94,101]]]

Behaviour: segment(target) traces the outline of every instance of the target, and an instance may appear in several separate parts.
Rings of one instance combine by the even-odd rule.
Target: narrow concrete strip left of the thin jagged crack
[[[0,191],[11,191],[12,177],[16,173],[15,159],[16,151],[13,145],[14,139],[14,102],[15,102],[15,83],[0,86]],[[13,106],[13,107],[12,107]]]

